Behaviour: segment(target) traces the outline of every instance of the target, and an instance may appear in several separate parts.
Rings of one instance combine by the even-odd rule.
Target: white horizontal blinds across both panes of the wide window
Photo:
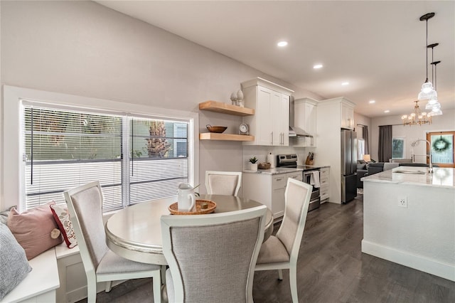
[[[25,209],[99,180],[103,211],[176,195],[188,182],[188,122],[23,107]]]

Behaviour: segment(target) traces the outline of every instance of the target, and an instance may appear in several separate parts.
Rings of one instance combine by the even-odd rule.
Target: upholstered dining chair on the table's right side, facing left
[[[279,280],[283,280],[283,269],[289,269],[292,302],[298,303],[297,258],[301,238],[304,235],[306,214],[313,186],[295,179],[287,179],[285,207],[282,224],[277,236],[271,235],[262,244],[257,257],[255,270],[278,270]]]

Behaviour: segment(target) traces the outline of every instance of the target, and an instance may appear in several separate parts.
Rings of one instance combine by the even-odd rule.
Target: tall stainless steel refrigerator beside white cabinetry
[[[357,196],[357,134],[341,130],[341,203]]]

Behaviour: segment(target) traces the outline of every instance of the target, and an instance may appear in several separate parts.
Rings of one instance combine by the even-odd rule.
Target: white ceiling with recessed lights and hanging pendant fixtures
[[[455,1],[97,1],[367,117],[408,114],[426,78],[425,22],[441,109],[455,108]],[[277,42],[289,45],[278,48]],[[428,52],[432,62],[432,50]],[[314,70],[313,65],[323,68]],[[432,81],[432,65],[429,65]],[[349,85],[341,85],[348,81]],[[304,97],[304,96],[301,96]],[[370,104],[370,100],[375,100]],[[424,109],[426,102],[419,102]],[[390,112],[385,113],[385,110]]]

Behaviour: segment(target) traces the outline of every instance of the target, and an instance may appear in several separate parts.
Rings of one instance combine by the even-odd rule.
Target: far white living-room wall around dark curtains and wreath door
[[[412,109],[410,107],[410,109]],[[432,124],[404,126],[402,124],[401,116],[387,116],[377,117],[371,119],[372,129],[370,131],[371,145],[370,150],[371,158],[378,161],[378,141],[379,141],[379,126],[380,125],[394,125],[392,127],[393,137],[405,137],[406,144],[406,158],[410,159],[412,154],[411,142],[416,139],[426,139],[427,132],[443,132],[455,131],[455,110],[442,109],[443,115],[433,117]],[[419,144],[414,147],[414,154],[424,155],[427,153],[425,144]],[[424,156],[416,156],[416,162],[425,162]]]

